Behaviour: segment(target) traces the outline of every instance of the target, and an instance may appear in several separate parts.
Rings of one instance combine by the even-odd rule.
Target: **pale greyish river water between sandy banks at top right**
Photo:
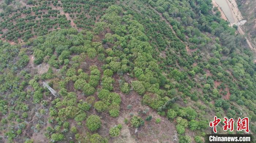
[[[219,5],[219,7],[221,7],[222,11],[226,15],[229,22],[234,23],[235,20],[232,16],[232,9],[230,9],[229,5],[227,4],[227,1],[226,0],[215,0],[215,1]]]

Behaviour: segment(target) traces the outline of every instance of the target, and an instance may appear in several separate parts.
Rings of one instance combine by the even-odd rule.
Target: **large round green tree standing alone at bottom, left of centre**
[[[90,131],[96,131],[101,127],[101,119],[97,115],[90,115],[86,119],[86,126]]]

